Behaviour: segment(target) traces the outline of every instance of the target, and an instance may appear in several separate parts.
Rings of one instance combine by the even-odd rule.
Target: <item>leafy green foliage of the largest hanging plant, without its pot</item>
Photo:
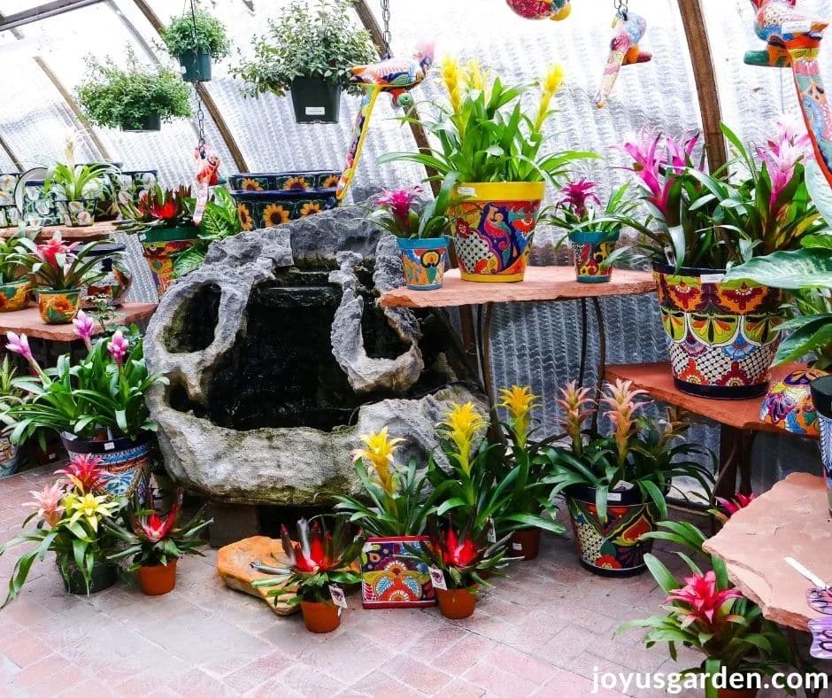
[[[356,27],[350,0],[296,2],[269,21],[268,33],[252,40],[254,57],[242,60],[231,74],[245,81],[245,94],[257,97],[286,94],[297,77],[318,77],[341,85],[353,95],[351,68],[374,63],[378,55],[372,37]]]

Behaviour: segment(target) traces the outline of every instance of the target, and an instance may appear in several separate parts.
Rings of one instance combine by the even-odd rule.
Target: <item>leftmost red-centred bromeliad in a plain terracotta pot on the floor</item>
[[[173,494],[173,505],[166,516],[141,505],[123,510],[122,522],[106,523],[122,549],[107,559],[114,562],[130,558],[129,570],[136,572],[139,586],[148,596],[161,596],[176,586],[176,562],[185,555],[203,555],[199,550],[205,541],[199,534],[212,524],[204,521],[199,511],[186,524],[181,524],[182,491]],[[126,546],[126,547],[124,547]]]

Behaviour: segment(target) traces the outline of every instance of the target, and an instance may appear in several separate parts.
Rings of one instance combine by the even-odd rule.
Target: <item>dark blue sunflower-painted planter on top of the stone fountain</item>
[[[273,228],[335,208],[340,172],[232,174],[231,196],[245,230]]]

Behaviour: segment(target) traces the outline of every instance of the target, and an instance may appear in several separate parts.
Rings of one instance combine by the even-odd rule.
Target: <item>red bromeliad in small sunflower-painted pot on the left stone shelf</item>
[[[81,309],[84,287],[104,276],[96,269],[99,260],[93,255],[98,244],[66,244],[59,232],[42,244],[19,238],[21,252],[12,260],[27,270],[43,322],[60,325],[73,321]]]

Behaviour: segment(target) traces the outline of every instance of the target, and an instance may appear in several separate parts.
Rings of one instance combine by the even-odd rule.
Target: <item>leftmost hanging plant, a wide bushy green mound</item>
[[[76,90],[84,116],[96,126],[123,131],[158,131],[162,121],[191,115],[190,91],[164,66],[143,66],[132,50],[127,68],[111,58],[87,58],[87,78]]]

